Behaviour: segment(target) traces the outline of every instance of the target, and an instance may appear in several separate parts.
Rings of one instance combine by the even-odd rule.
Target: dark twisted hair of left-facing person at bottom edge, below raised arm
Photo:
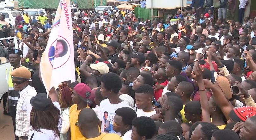
[[[212,137],[212,133],[219,130],[219,128],[212,123],[201,122],[200,125],[202,125],[201,127],[201,132],[203,135],[202,139],[210,140]]]

